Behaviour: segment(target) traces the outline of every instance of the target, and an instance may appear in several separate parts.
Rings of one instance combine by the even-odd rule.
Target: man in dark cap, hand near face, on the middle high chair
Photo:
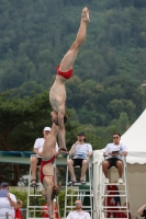
[[[80,183],[86,184],[83,177],[88,168],[88,159],[92,155],[92,146],[86,142],[85,132],[78,132],[77,141],[72,145],[69,155],[71,155],[72,159],[69,159],[67,164],[72,180],[68,183],[68,185],[74,185],[77,183],[74,170],[74,166],[76,165],[80,165],[81,168]]]

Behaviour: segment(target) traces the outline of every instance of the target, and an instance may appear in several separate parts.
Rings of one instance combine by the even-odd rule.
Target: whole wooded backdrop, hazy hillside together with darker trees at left
[[[145,0],[1,0],[0,150],[31,150],[50,124],[48,89],[85,5],[91,22],[66,83],[67,147],[85,130],[93,149],[103,148],[145,108]]]

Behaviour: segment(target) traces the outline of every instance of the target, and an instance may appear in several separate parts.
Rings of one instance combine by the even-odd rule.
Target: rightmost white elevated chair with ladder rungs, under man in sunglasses
[[[104,161],[104,158],[102,160],[102,162]],[[106,218],[106,215],[109,215],[109,212],[111,214],[109,217],[112,218],[112,214],[113,212],[119,212],[122,211],[122,209],[124,209],[124,211],[126,211],[127,214],[127,219],[128,219],[128,211],[130,209],[127,208],[127,206],[108,206],[108,198],[109,197],[119,197],[122,200],[124,200],[124,203],[130,203],[130,195],[128,195],[128,188],[127,188],[127,166],[126,166],[126,158],[122,157],[122,161],[123,161],[123,184],[116,183],[115,182],[115,175],[117,175],[117,170],[112,166],[109,170],[109,178],[110,182],[112,181],[113,183],[104,183],[104,174],[102,171],[102,162],[99,164],[99,170],[97,170],[99,172],[99,178],[98,178],[98,191],[97,191],[97,209],[98,209],[98,219],[104,219]],[[114,180],[113,180],[114,178]],[[119,194],[115,193],[113,191],[110,191],[109,187],[110,186],[117,186],[119,187]],[[110,195],[110,193],[112,192],[112,195]]]

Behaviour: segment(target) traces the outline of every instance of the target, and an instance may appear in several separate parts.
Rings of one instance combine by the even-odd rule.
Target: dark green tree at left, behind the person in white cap
[[[47,92],[23,99],[13,97],[12,91],[0,94],[0,150],[32,151],[35,139],[42,137],[43,127],[52,124],[50,111]],[[70,112],[68,114],[70,115]],[[76,124],[68,122],[66,130],[69,149],[74,132],[77,130]],[[19,165],[13,165],[13,178],[11,175],[7,177],[3,174],[8,166],[9,164],[1,164],[1,181],[4,178],[12,185],[16,185],[20,177]]]

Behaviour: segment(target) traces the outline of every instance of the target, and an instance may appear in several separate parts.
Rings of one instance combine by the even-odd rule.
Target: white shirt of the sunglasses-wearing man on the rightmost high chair
[[[120,143],[120,145],[108,143],[105,147],[105,155],[108,155],[109,152],[112,152],[112,151],[119,151],[119,153],[122,155],[123,151],[127,152],[127,147],[123,143]],[[109,155],[108,158],[121,159],[121,155]]]

